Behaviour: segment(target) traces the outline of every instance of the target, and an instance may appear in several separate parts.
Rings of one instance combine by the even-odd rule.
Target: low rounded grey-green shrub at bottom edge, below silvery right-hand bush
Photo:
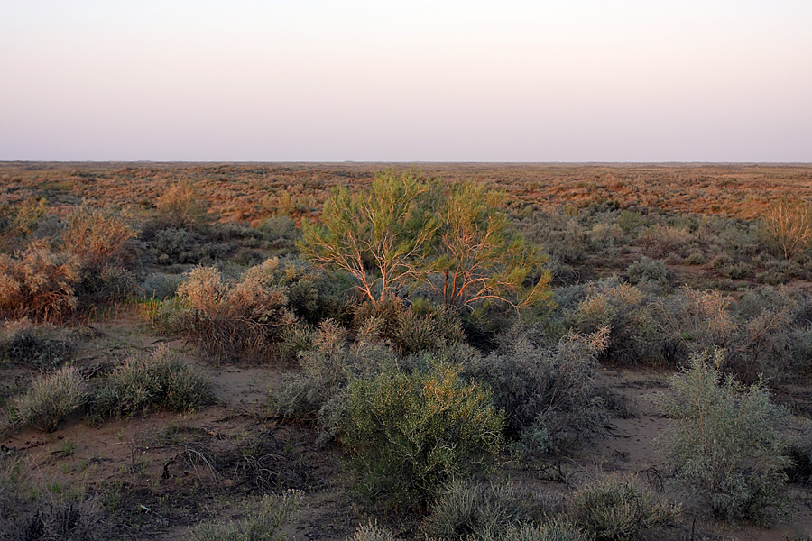
[[[609,475],[577,491],[569,516],[595,539],[632,539],[643,531],[667,526],[680,507],[641,485],[633,476]]]

